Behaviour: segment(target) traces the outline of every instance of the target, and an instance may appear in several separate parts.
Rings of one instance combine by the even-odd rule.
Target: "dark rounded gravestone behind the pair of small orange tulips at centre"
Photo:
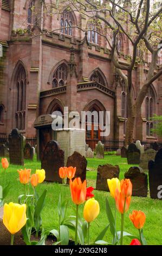
[[[80,177],[82,182],[86,180],[87,160],[85,156],[74,151],[73,155],[68,157],[67,167],[69,166],[76,167],[74,179]],[[69,184],[69,179],[67,179],[67,184]]]

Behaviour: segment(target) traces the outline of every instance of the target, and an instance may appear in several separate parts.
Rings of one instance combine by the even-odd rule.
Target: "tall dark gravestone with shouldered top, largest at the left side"
[[[12,130],[9,135],[10,163],[24,165],[23,136],[18,129]]]

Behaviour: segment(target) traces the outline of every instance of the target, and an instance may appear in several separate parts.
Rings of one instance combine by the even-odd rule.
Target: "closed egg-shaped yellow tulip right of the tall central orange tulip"
[[[87,222],[92,222],[96,217],[98,217],[100,212],[100,205],[98,201],[94,198],[90,198],[87,200],[84,210],[83,216]]]

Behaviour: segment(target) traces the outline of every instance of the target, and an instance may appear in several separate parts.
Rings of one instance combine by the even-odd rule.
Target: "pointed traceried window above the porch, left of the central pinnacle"
[[[65,64],[60,65],[54,72],[52,87],[66,86],[68,70]]]

